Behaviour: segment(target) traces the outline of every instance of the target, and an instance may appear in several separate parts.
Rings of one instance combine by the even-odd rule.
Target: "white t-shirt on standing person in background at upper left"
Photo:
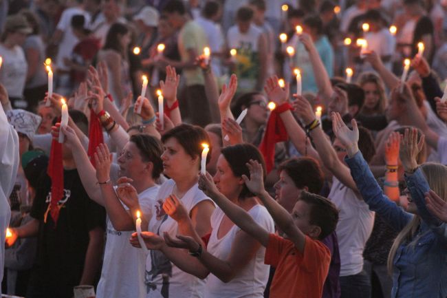
[[[85,17],[85,24],[90,23],[90,14],[85,10],[80,8],[67,8],[61,15],[56,30],[61,30],[63,32],[63,37],[59,43],[59,50],[56,56],[56,65],[59,70],[69,70],[65,66],[64,58],[71,58],[73,48],[78,43],[78,38],[73,34],[72,30],[72,17],[77,14],[82,14]]]

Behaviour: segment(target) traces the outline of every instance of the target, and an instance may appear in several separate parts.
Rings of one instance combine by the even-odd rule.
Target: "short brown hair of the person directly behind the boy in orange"
[[[307,187],[309,193],[320,193],[325,182],[320,164],[314,158],[305,156],[290,158],[279,165],[278,171],[285,171],[295,187],[298,189]]]

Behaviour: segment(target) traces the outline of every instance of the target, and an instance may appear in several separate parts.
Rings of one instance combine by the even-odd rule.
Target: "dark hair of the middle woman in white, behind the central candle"
[[[204,147],[201,146],[203,143],[206,143],[209,146],[211,143],[210,137],[203,128],[189,124],[176,126],[166,132],[166,134],[162,136],[162,142],[166,142],[166,140],[170,138],[175,138],[175,140],[182,145],[188,156],[192,158],[201,156],[201,151],[204,149]],[[210,146],[210,151],[206,157],[207,163],[210,161],[211,150],[212,148]]]

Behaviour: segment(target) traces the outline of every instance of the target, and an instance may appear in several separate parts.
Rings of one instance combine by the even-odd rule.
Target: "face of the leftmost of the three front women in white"
[[[147,163],[141,158],[140,150],[133,142],[127,142],[118,157],[120,176],[131,179],[140,178]]]

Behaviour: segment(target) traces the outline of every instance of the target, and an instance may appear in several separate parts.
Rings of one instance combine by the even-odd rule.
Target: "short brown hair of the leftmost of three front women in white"
[[[152,178],[157,179],[163,171],[162,153],[163,147],[160,140],[148,134],[135,134],[131,136],[129,142],[133,142],[140,151],[144,162],[152,162]]]

